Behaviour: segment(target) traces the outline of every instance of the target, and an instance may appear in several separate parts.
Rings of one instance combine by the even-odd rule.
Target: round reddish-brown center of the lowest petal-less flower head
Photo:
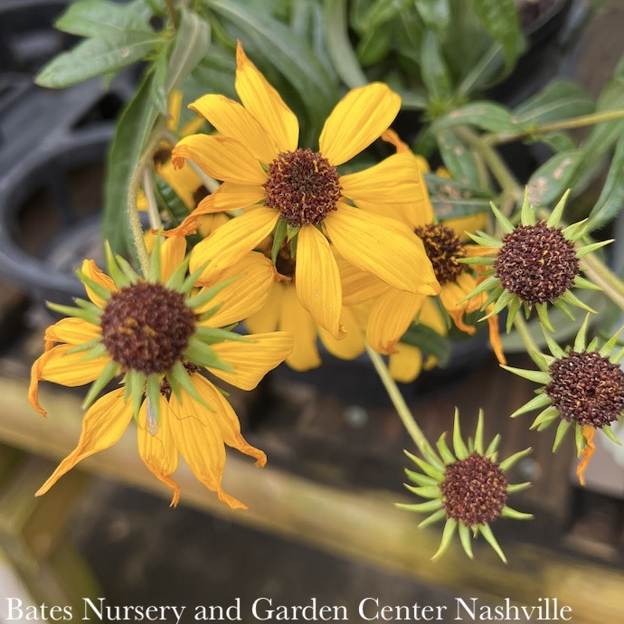
[[[487,525],[501,515],[509,481],[491,459],[472,453],[447,466],[440,484],[449,518],[466,526]]]

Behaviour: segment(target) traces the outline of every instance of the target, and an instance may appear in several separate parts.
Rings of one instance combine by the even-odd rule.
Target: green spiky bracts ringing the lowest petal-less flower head
[[[483,411],[479,410],[474,438],[464,440],[459,426],[459,411],[456,409],[452,436],[452,449],[449,444],[447,444],[446,434],[442,434],[436,444],[438,449],[437,453],[433,449],[426,449],[424,457],[419,458],[407,450],[405,451],[405,455],[407,455],[407,457],[410,458],[420,470],[416,471],[409,468],[405,469],[405,474],[411,482],[406,483],[405,487],[410,490],[412,494],[421,496],[421,498],[425,498],[427,500],[423,503],[416,504],[397,503],[396,506],[401,509],[406,509],[407,511],[430,514],[421,521],[421,524],[419,525],[420,527],[432,525],[440,520],[446,521],[444,530],[442,531],[440,547],[431,557],[432,560],[439,559],[448,550],[449,545],[453,541],[453,536],[457,533],[459,534],[459,543],[470,559],[474,556],[472,550],[472,540],[480,534],[484,537],[487,544],[494,549],[500,559],[506,563],[505,554],[503,553],[500,545],[496,542],[496,537],[492,533],[489,523],[467,525],[461,520],[450,517],[447,512],[447,508],[445,507],[445,498],[442,490],[442,486],[447,478],[447,468],[450,465],[455,465],[456,463],[464,462],[473,456],[478,456],[480,458],[488,459],[492,462],[492,464],[495,464],[497,468],[506,472],[518,459],[525,457],[525,455],[531,451],[531,449],[522,450],[497,464],[496,453],[500,443],[500,437],[496,436],[486,448],[483,440],[483,430]],[[492,464],[490,464],[490,466]],[[506,486],[506,494],[517,492],[525,487],[529,487],[530,485],[530,483],[518,483],[513,485],[508,484]],[[498,515],[515,520],[525,520],[533,517],[530,514],[524,514],[516,511],[506,504],[502,506]]]

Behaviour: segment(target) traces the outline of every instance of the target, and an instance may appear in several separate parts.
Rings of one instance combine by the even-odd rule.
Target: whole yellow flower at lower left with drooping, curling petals
[[[147,468],[180,496],[172,477],[182,455],[206,487],[232,507],[243,505],[222,490],[224,445],[266,457],[241,435],[236,414],[201,371],[251,390],[292,350],[285,332],[240,336],[220,329],[249,316],[268,295],[273,268],[252,252],[220,276],[221,283],[194,288],[186,277],[184,238],[156,241],[150,275],[141,279],[108,251],[110,276],[85,260],[79,271],[90,301],[52,306],[70,317],[45,332],[45,353],[33,364],[29,399],[38,402],[40,381],[79,386],[91,383],[78,446],[37,492],[44,494],[81,459],[116,444],[137,421],[138,451]],[[237,279],[238,278],[238,279]],[[94,402],[121,378],[123,388]]]

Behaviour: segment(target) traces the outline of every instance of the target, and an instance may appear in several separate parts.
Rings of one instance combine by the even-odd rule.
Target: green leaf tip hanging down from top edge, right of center
[[[472,6],[487,32],[501,44],[506,66],[511,67],[525,49],[514,0],[472,0]]]

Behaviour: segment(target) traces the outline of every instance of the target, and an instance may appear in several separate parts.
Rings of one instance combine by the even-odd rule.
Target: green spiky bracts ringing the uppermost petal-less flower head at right
[[[545,226],[547,228],[557,229],[561,227],[560,222],[563,215],[563,209],[569,195],[570,191],[566,191],[561,200],[556,206],[554,206],[553,211],[545,221]],[[534,206],[529,203],[528,192],[525,193],[525,200],[519,211],[519,215],[516,214],[515,218],[507,218],[496,208],[494,204],[492,204],[492,213],[494,213],[496,224],[499,231],[502,232],[502,236],[515,232],[518,227],[534,226],[539,221]],[[514,225],[515,222],[517,222],[518,225]],[[582,239],[585,238],[587,234],[585,222],[576,222],[563,227],[561,228],[561,233],[565,240],[573,243],[575,256],[578,260],[612,242],[582,242]],[[484,232],[477,232],[477,234],[474,235],[469,234],[469,236],[479,247],[483,248],[483,253],[479,253],[478,251],[473,252],[471,254],[472,257],[460,259],[459,262],[479,265],[479,273],[483,279],[479,282],[477,288],[470,292],[464,300],[474,298],[482,293],[487,293],[488,297],[481,307],[481,311],[485,312],[487,310],[487,315],[483,318],[485,319],[500,314],[502,310],[506,308],[507,333],[509,333],[512,326],[514,326],[515,317],[521,309],[524,310],[526,318],[529,317],[534,309],[542,322],[542,325],[550,332],[554,331],[554,327],[552,326],[548,315],[549,306],[557,307],[563,312],[563,314],[570,317],[572,320],[573,317],[570,307],[579,307],[587,312],[594,311],[572,292],[572,289],[576,288],[600,290],[600,287],[593,284],[589,279],[583,278],[580,273],[578,273],[573,279],[572,286],[570,288],[566,288],[562,294],[556,296],[553,300],[551,300],[549,296],[546,297],[547,300],[543,300],[541,298],[544,296],[542,293],[534,293],[534,299],[532,300],[531,298],[518,296],[515,292],[511,292],[503,286],[501,279],[496,274],[495,268],[495,262],[498,259],[501,252],[500,250],[504,244],[501,240],[502,236],[501,238],[496,239],[495,237]],[[493,253],[493,251],[496,251],[496,253]],[[541,257],[538,261],[541,266],[535,266],[534,270],[531,271],[532,274],[537,274],[537,272],[544,267],[544,263],[548,262],[548,258]],[[582,270],[582,265],[580,265],[579,270]],[[563,282],[563,286],[561,288],[565,288],[565,282]]]

